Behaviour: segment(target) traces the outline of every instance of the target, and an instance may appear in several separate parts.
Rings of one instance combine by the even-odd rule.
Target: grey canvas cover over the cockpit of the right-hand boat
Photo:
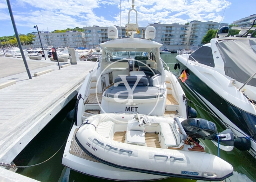
[[[255,72],[256,40],[221,40],[216,43],[224,61],[225,75],[245,83]],[[247,85],[256,86],[256,78]]]

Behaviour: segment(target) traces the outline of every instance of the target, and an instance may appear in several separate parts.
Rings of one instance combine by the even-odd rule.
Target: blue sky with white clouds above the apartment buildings
[[[10,0],[18,33],[84,26],[120,26],[120,0]],[[131,0],[121,0],[121,25],[128,22]],[[227,8],[225,10],[225,7]],[[192,20],[233,21],[256,14],[255,0],[135,0],[139,27],[148,23],[185,24]],[[224,13],[225,10],[225,13]],[[222,18],[222,15],[224,16]],[[135,22],[131,12],[130,22]],[[0,0],[0,37],[13,35],[6,0]]]

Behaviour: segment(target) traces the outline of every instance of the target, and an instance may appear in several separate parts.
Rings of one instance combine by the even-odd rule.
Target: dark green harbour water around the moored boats
[[[170,67],[170,71],[178,77],[178,71],[174,70],[176,55],[177,54],[161,55],[161,57]],[[196,100],[184,85],[182,85],[182,88],[190,100],[193,100],[196,105],[203,107],[202,103]],[[61,112],[58,113],[54,119],[52,119],[52,121],[27,145],[27,147],[20,152],[20,154],[14,159],[14,163],[17,166],[40,163],[58,151],[66,139],[71,126],[71,122],[67,121],[66,115],[73,109],[74,103],[75,100],[72,100],[64,109],[62,109]],[[218,132],[222,132],[225,129],[215,117],[211,116],[200,107],[195,106],[193,103],[191,104],[191,107],[196,109],[199,118],[215,122]],[[217,155],[217,147],[211,141],[201,140],[201,142],[206,146],[206,151],[208,153]],[[65,146],[63,146],[61,151],[46,163],[26,169],[18,169],[17,173],[41,182],[110,182],[110,180],[83,175],[76,171],[67,169],[66,167],[64,168],[61,164],[64,147]],[[220,157],[232,164],[235,171],[234,175],[229,177],[226,182],[256,182],[256,159],[250,156],[247,151],[238,151],[237,149],[234,149],[233,151],[226,152],[220,150]],[[196,182],[196,180],[168,178],[157,182]]]

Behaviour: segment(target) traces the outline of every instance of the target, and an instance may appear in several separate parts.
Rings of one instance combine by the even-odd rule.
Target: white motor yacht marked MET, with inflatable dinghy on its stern
[[[131,11],[136,13],[136,24],[129,23]],[[175,118],[181,118],[183,121],[189,117],[196,117],[196,114],[189,113],[189,110],[192,111],[192,109],[188,109],[180,83],[177,82],[175,75],[165,69],[166,64],[160,56],[162,44],[150,40],[155,38],[155,28],[149,26],[146,29],[145,39],[134,38],[134,33],[138,29],[137,11],[134,7],[128,13],[126,27],[130,37],[124,39],[117,39],[118,31],[115,26],[108,28],[108,38],[112,38],[112,40],[101,44],[102,57],[95,69],[92,69],[87,75],[79,90],[74,109],[75,123],[67,139],[62,164],[90,176],[120,181],[148,181],[170,176],[221,180],[231,176],[233,168],[229,163],[205,153],[202,146],[194,146],[194,143],[184,145],[185,140],[187,140],[186,133],[182,132],[181,125],[176,126]],[[149,124],[146,125],[141,123],[142,121],[138,121],[140,120],[138,113],[143,115],[141,117],[148,118],[152,123],[155,120],[156,124],[152,124],[155,128],[150,129]],[[133,120],[134,117],[135,120]],[[133,123],[132,120],[135,122],[135,127],[141,129],[131,130],[137,130],[140,133],[129,132],[128,125]],[[161,122],[163,124],[160,124]],[[160,125],[162,125],[162,129]],[[170,128],[171,125],[175,125],[174,128]],[[199,126],[200,124],[198,124]],[[206,124],[206,126],[208,125]],[[91,130],[93,128],[94,130]],[[179,132],[178,128],[182,131]],[[89,131],[91,132],[89,133]],[[146,133],[153,131],[155,136],[150,137]],[[84,135],[87,132],[88,135]],[[126,134],[128,132],[131,140]],[[162,136],[161,139],[163,132],[165,136]],[[95,137],[92,140],[88,140],[93,136]],[[124,138],[130,143],[125,144]],[[108,145],[106,145],[105,139]],[[94,145],[94,142],[97,141],[96,145],[104,145],[104,149],[102,149],[106,153],[101,153]],[[88,151],[87,146],[93,151],[99,150],[98,153],[101,153],[105,158],[92,155],[92,151]],[[114,150],[115,155],[108,156],[105,147],[110,151]],[[159,161],[154,159],[148,161],[146,156],[144,156],[144,161],[144,159],[131,157],[128,151],[132,148],[136,148],[137,157],[144,155],[143,152],[147,153],[151,149],[153,153],[162,150],[162,154],[156,152],[151,155],[153,158],[160,158]],[[189,148],[193,148],[194,151],[189,151]],[[183,149],[186,152],[192,152],[191,155],[198,155],[197,157],[203,160],[201,162],[207,163],[207,166],[210,163],[209,170],[203,167],[200,168],[202,171],[199,170],[200,165],[198,163],[198,166],[194,168],[197,164],[192,162],[193,157],[187,158],[189,153],[183,153]],[[124,158],[122,156],[118,158],[118,152],[124,154]],[[167,152],[165,157],[163,157],[164,152]],[[175,158],[169,158],[169,154],[172,152],[177,154],[176,157],[174,156]],[[177,156],[182,156],[182,159]],[[107,159],[111,159],[112,162]],[[135,166],[138,164],[135,163],[137,159],[140,165]],[[195,160],[197,159],[195,158]],[[113,163],[113,160],[118,163]],[[217,170],[216,168],[219,167],[213,164],[212,160],[222,161],[220,163],[223,164],[223,168],[221,167],[223,170]],[[166,161],[168,161],[168,165],[162,166],[161,163],[166,163]],[[123,164],[121,165],[119,162]],[[154,169],[150,166],[154,166]],[[177,168],[177,170],[172,172],[171,170],[174,168],[169,168],[170,166]],[[189,167],[182,168],[182,166]]]

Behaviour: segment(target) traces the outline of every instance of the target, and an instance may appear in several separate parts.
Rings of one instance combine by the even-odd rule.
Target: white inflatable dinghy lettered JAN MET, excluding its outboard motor
[[[187,134],[180,123],[183,120],[139,114],[98,114],[84,121],[75,140],[94,159],[120,169],[211,181],[231,176],[233,167],[221,158],[188,150],[190,146],[184,144]],[[124,143],[113,140],[115,132],[126,132]],[[147,146],[148,132],[158,135],[161,148]]]

